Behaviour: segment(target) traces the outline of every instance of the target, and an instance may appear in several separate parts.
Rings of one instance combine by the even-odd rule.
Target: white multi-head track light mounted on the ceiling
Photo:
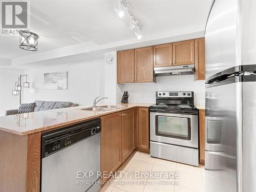
[[[142,35],[141,35],[141,27],[140,24],[138,22],[138,20],[135,18],[134,14],[132,13],[132,11],[127,7],[126,3],[123,0],[119,1],[118,4],[118,8],[114,8],[114,10],[117,12],[119,17],[123,17],[124,15],[124,10],[127,11],[127,13],[129,13],[130,17],[131,17],[131,23],[130,23],[130,28],[135,31],[135,35],[137,36],[138,39],[141,39]]]

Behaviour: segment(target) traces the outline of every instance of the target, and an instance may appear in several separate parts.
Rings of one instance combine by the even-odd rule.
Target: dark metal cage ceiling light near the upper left
[[[37,51],[39,36],[27,30],[19,30],[19,48],[27,51]]]

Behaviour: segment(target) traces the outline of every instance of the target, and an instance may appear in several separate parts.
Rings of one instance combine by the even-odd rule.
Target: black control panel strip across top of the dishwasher
[[[47,157],[100,132],[100,119],[94,119],[43,134],[41,137],[41,157]]]

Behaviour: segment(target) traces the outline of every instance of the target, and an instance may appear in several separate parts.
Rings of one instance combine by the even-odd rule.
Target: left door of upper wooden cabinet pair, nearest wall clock
[[[134,82],[134,49],[117,52],[117,83]]]

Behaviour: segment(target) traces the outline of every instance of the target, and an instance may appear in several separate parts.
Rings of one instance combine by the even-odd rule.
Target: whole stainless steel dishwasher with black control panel
[[[100,190],[100,119],[41,136],[41,192]]]

